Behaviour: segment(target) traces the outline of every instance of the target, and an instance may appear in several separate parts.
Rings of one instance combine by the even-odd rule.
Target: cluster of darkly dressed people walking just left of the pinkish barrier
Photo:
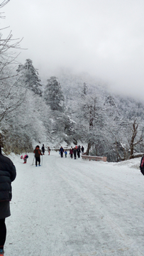
[[[67,149],[63,149],[62,146],[60,147],[60,156],[63,157],[63,154],[65,154],[65,157],[67,157]],[[77,157],[79,158],[80,157],[80,154],[84,154],[84,146],[74,146],[74,148],[71,146],[71,149],[70,149],[70,157],[73,158],[74,156],[74,159],[77,159]]]

